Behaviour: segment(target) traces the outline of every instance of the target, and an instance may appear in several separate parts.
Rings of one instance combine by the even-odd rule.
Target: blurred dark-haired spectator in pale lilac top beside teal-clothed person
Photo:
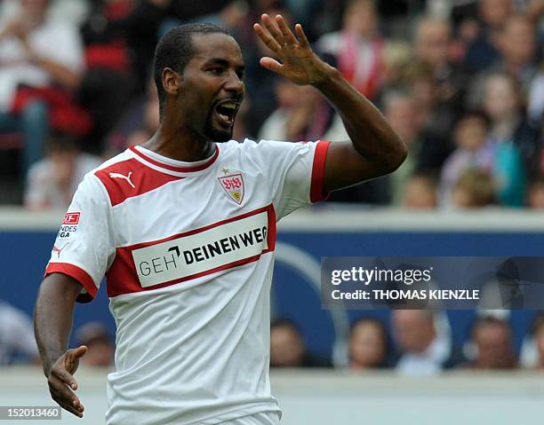
[[[489,118],[478,111],[461,116],[453,129],[457,149],[447,158],[440,177],[443,205],[451,204],[452,187],[468,169],[491,172],[495,146],[489,137]]]

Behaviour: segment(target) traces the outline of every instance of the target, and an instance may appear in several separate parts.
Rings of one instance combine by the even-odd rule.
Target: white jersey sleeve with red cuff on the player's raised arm
[[[329,196],[324,192],[329,143],[261,140],[257,145],[278,220]]]

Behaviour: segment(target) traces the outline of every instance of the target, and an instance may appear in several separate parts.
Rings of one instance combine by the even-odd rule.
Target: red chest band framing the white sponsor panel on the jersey
[[[238,260],[233,263],[223,264],[214,269],[206,270],[205,272],[196,273],[194,275],[187,276],[181,279],[174,279],[168,282],[154,285],[152,287],[142,287],[140,285],[140,279],[138,278],[138,273],[136,272],[136,264],[134,264],[134,259],[132,257],[132,251],[134,249],[156,245],[157,243],[164,242],[165,240],[173,240],[181,236],[188,236],[198,232],[204,232],[206,230],[212,229],[213,227],[220,226],[221,224],[227,224],[236,220],[240,220],[244,217],[253,216],[255,214],[259,214],[265,211],[268,214],[268,233],[267,233],[268,248],[264,249],[259,255],[251,256],[249,258],[244,258],[242,260]],[[164,238],[162,240],[153,240],[149,242],[135,244],[130,247],[117,248],[116,259],[114,260],[113,264],[111,264],[111,267],[106,273],[106,278],[108,281],[108,284],[107,284],[108,297],[112,298],[117,295],[151,291],[154,289],[158,289],[160,287],[170,287],[172,285],[185,282],[187,280],[201,278],[203,276],[206,276],[212,273],[225,271],[225,270],[232,269],[234,267],[238,267],[244,264],[250,264],[255,261],[258,261],[260,259],[260,256],[262,256],[263,254],[267,254],[268,252],[274,251],[275,248],[276,248],[276,211],[274,210],[274,206],[272,204],[268,205],[267,207],[255,209],[253,211],[247,212],[240,216],[231,217],[226,220],[221,220],[219,222],[206,225],[199,229],[172,235],[171,237]]]

